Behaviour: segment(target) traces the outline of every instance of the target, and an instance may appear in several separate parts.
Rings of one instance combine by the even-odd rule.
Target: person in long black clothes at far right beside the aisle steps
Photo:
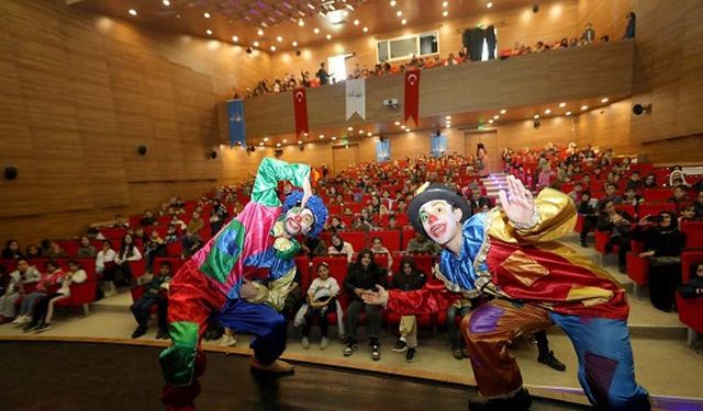
[[[634,239],[645,241],[640,258],[649,261],[649,299],[662,311],[671,311],[674,292],[681,285],[681,250],[685,246],[685,235],[679,230],[676,214],[661,212],[658,216],[644,217],[636,229]]]

